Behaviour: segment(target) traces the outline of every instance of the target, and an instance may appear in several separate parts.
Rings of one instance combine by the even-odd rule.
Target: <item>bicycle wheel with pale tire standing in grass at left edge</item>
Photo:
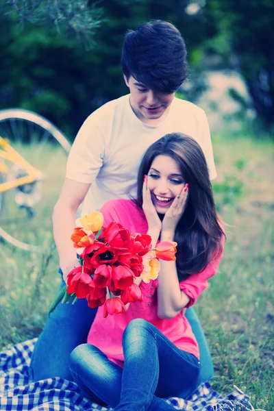
[[[51,215],[71,145],[50,121],[21,109],[0,110],[0,136],[43,173],[40,181],[0,192],[0,236],[26,251],[42,251],[53,241]],[[5,181],[27,175],[20,162],[5,164]]]

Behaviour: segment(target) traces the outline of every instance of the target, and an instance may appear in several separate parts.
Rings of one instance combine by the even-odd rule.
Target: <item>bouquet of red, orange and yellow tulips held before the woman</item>
[[[92,212],[80,219],[71,236],[74,247],[81,249],[80,266],[71,270],[67,286],[58,293],[49,308],[57,304],[86,298],[90,308],[103,306],[103,316],[125,312],[127,303],[142,301],[136,277],[149,283],[158,277],[162,260],[176,260],[176,242],[159,242],[151,248],[151,237],[130,233],[121,224],[112,221],[103,227],[103,214]]]

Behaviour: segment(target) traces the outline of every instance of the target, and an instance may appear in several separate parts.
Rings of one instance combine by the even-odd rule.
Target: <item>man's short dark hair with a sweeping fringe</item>
[[[147,88],[175,92],[186,79],[186,45],[179,30],[168,21],[144,23],[125,34],[122,70]]]

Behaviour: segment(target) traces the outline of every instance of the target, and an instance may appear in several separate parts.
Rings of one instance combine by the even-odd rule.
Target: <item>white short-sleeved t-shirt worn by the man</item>
[[[66,177],[91,184],[81,214],[99,211],[111,199],[136,197],[142,155],[153,142],[173,132],[197,140],[206,157],[210,178],[214,179],[208,119],[197,105],[175,97],[166,118],[156,126],[138,119],[129,104],[129,95],[90,114],[73,142],[66,167]]]

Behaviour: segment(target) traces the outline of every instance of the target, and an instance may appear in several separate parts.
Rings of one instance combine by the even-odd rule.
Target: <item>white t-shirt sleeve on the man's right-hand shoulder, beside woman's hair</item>
[[[206,116],[206,113],[203,110],[201,110],[199,119],[199,143],[206,157],[208,170],[210,172],[210,179],[212,180],[216,178],[217,173],[214,164],[212,141],[210,137],[210,126],[208,125],[208,118]]]

